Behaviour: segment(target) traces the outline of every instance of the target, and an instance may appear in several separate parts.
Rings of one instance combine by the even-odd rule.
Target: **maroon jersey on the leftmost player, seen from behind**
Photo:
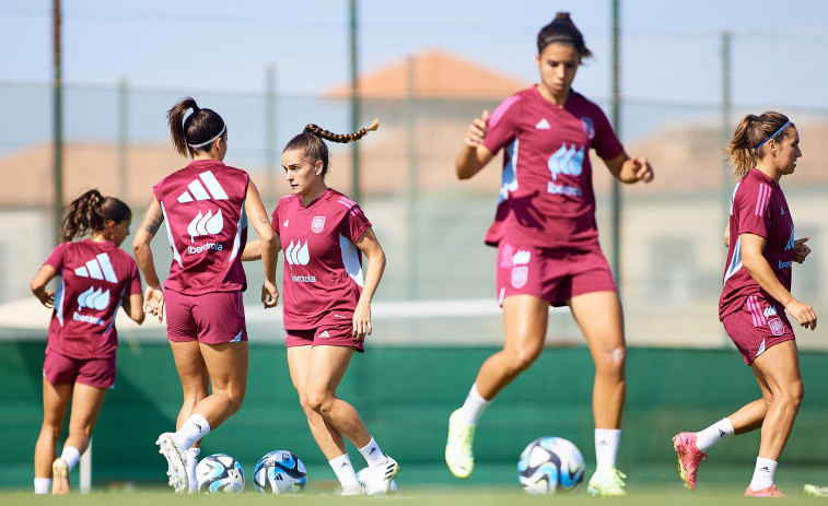
[[[121,297],[141,293],[136,260],[110,240],[84,239],[59,244],[45,263],[60,275],[48,348],[72,358],[114,355]]]

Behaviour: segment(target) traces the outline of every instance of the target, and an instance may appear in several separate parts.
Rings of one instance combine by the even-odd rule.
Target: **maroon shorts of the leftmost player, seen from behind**
[[[72,358],[46,349],[43,377],[51,385],[79,383],[95,388],[115,387],[115,354],[103,358]]]

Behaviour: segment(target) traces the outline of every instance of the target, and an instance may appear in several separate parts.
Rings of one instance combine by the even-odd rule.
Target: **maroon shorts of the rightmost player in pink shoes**
[[[774,344],[794,339],[791,322],[777,302],[750,295],[745,305],[722,319],[747,365]]]

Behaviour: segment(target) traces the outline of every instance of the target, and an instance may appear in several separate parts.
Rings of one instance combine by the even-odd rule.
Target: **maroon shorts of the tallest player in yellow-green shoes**
[[[535,295],[565,306],[575,295],[617,292],[613,271],[600,248],[550,249],[500,243],[498,303],[511,295]]]

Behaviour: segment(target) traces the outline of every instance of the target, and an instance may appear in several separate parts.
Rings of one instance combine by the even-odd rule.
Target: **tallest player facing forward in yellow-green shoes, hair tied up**
[[[457,156],[467,179],[505,149],[500,202],[486,243],[498,247],[498,299],[505,343],[480,367],[448,420],[445,460],[457,478],[474,468],[475,426],[494,396],[540,355],[549,305],[572,310],[595,362],[593,413],[597,469],[587,491],[623,495],[615,467],[626,395],[621,307],[598,246],[587,152],[595,149],[623,183],[653,179],[646,158],[629,157],[597,105],[572,90],[592,52],[568,13],[540,30],[540,83],[506,98],[469,126]]]

